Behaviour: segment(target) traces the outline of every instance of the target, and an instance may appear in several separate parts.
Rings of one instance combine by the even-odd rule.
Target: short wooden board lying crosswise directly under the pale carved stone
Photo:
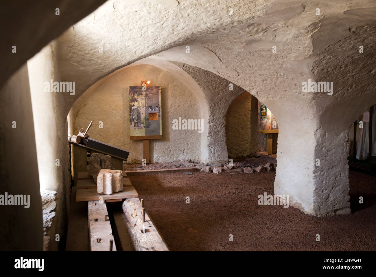
[[[93,201],[93,200],[111,200],[126,199],[138,197],[134,187],[124,187],[123,191],[114,192],[113,194],[99,194],[96,188],[87,188],[86,190],[77,190],[76,201]]]

